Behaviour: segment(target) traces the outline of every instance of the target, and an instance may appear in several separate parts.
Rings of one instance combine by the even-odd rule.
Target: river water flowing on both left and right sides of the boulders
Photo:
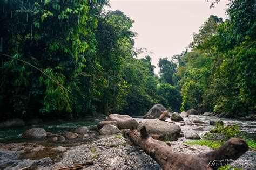
[[[137,117],[140,118],[140,117]],[[217,119],[215,117],[207,117],[203,115],[190,115],[189,119],[200,119],[202,121],[208,121],[210,119]],[[75,146],[83,143],[87,143],[89,141],[99,139],[99,135],[97,132],[92,131],[91,127],[96,125],[99,121],[102,121],[102,118],[87,118],[87,119],[79,119],[75,121],[46,121],[42,124],[32,125],[32,126],[24,126],[19,128],[0,128],[0,143],[18,143],[18,142],[36,142],[42,144],[44,146]],[[235,119],[224,119],[220,118],[224,121],[225,124],[238,124],[240,126],[241,132],[248,138],[256,141],[256,121],[241,121]],[[89,138],[77,138],[72,140],[66,140],[62,143],[53,143],[49,140],[31,140],[31,139],[22,139],[21,135],[24,131],[30,128],[43,128],[47,132],[65,135],[66,132],[73,132],[76,128],[81,126],[87,126],[89,128]],[[210,126],[210,125],[209,125]]]

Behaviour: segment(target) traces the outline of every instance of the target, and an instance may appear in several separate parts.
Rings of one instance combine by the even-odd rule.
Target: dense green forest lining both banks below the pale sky
[[[1,1],[2,118],[78,118],[197,109],[242,116],[256,110],[253,0],[210,16],[184,52],[138,59],[133,20],[104,0]]]

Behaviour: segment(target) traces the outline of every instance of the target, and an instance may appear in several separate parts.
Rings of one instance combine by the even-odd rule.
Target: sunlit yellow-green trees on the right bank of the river
[[[210,16],[194,34],[191,52],[177,56],[182,61],[174,74],[181,111],[194,108],[234,117],[256,111],[254,1],[231,1],[226,13],[230,18],[225,21]]]

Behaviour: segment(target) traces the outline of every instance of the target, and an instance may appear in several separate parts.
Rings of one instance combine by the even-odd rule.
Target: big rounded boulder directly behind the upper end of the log
[[[137,131],[145,126],[147,133],[159,134],[164,140],[176,141],[179,138],[180,127],[176,124],[167,123],[157,119],[144,119],[138,126]]]

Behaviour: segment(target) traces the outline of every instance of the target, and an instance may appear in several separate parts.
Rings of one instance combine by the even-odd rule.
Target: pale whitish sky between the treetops
[[[222,0],[214,8],[205,0],[110,0],[111,10],[120,10],[134,20],[132,31],[137,32],[136,48],[147,48],[158,74],[159,58],[180,54],[193,40],[193,32],[210,15],[227,18],[225,15],[228,1]]]

